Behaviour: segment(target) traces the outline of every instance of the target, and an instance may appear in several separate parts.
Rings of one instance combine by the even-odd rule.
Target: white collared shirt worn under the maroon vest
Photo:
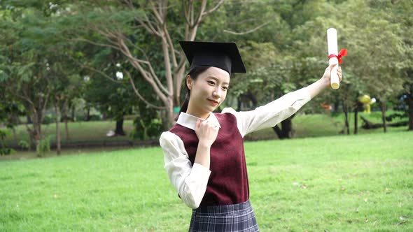
[[[255,110],[237,112],[232,108],[225,108],[222,113],[235,115],[239,133],[244,137],[253,131],[275,126],[310,100],[307,88],[302,88]],[[193,115],[181,113],[176,123],[195,130],[197,119]],[[214,113],[209,114],[207,120],[220,126]],[[172,132],[165,131],[161,134],[160,146],[164,152],[165,169],[172,185],[186,205],[190,208],[198,208],[207,189],[211,171],[197,163],[192,165],[183,141]]]

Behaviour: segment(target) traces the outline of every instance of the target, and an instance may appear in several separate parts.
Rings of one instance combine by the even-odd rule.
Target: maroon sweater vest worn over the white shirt
[[[200,206],[243,203],[249,199],[249,186],[244,140],[237,127],[237,118],[230,113],[214,115],[221,129],[211,146],[211,175]],[[180,124],[175,124],[169,131],[181,138],[189,160],[194,164],[198,147],[195,131]]]

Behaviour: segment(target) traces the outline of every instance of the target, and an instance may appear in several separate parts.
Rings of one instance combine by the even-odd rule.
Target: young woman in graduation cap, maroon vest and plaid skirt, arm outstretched
[[[247,112],[225,108],[230,73],[245,73],[235,43],[180,42],[191,64],[188,94],[176,124],[162,133],[165,169],[179,197],[193,208],[189,231],[258,231],[249,202],[244,154],[247,133],[275,126],[330,86],[322,78]],[[341,80],[342,71],[337,75]],[[235,80],[236,81],[236,80]]]

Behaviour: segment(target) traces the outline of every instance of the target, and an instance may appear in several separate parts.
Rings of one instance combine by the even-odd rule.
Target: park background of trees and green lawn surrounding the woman
[[[246,136],[258,224],[411,231],[412,15],[397,0],[1,1],[0,231],[185,231],[158,147],[185,96],[178,42],[236,42],[248,72],[222,108],[252,110],[321,78],[330,27],[349,50],[340,88]]]

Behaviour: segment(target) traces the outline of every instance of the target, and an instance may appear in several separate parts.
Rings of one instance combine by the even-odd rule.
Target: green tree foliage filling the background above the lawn
[[[159,85],[167,86],[161,39],[139,25],[146,17],[148,22],[157,19],[151,14],[151,4],[134,3],[131,9],[123,1],[104,5],[98,1],[0,1],[0,92],[20,96],[18,103],[27,113],[32,106],[41,112],[38,106],[46,100],[63,106],[83,97],[88,107],[119,119],[136,112],[140,101],[126,78],[128,71],[138,92],[162,105],[162,98],[155,96],[136,64],[130,63],[132,57],[148,58]],[[207,8],[215,3],[208,1]],[[200,1],[193,4],[201,6]],[[182,1],[169,1],[167,7],[165,25],[174,46],[186,30],[182,6]],[[335,27],[339,48],[349,49],[342,64],[344,80],[339,90],[326,92],[309,105],[316,109],[320,103],[344,101],[351,106],[360,94],[383,101],[401,92],[411,94],[411,15],[411,1],[225,1],[213,15],[203,17],[195,40],[237,42],[248,73],[233,76],[229,97],[253,94],[262,105],[321,78],[328,62],[325,31]],[[99,31],[122,34],[130,55],[113,49],[113,41],[108,43],[111,36]],[[105,81],[102,73],[90,68],[112,80]],[[116,80],[117,71],[124,73],[123,81]],[[92,81],[83,81],[85,75]]]

